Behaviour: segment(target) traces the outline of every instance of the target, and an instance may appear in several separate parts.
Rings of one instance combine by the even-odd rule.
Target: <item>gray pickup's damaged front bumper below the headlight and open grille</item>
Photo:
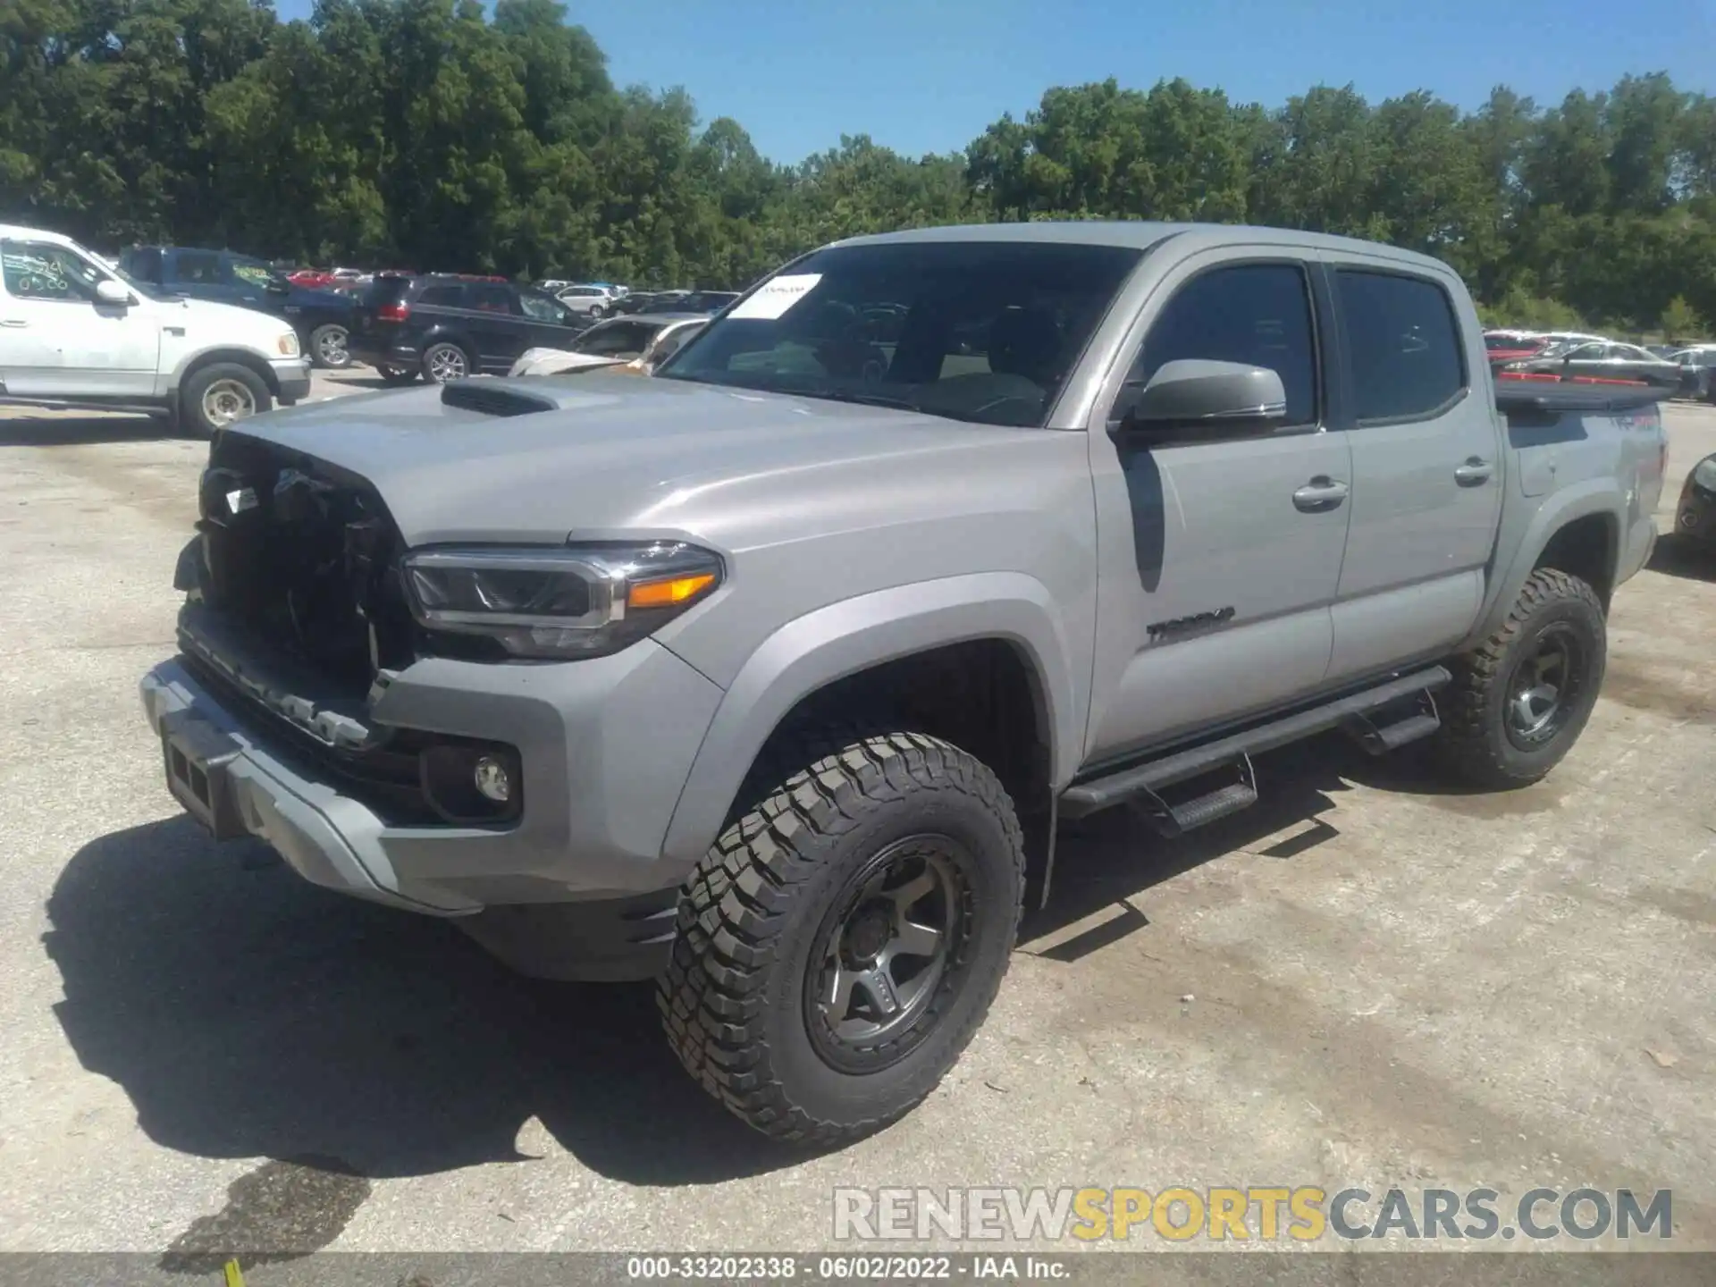
[[[317,777],[269,716],[182,659],[149,671],[141,695],[163,758],[194,746],[213,765],[211,808],[225,832],[266,841],[305,880],[468,918],[479,942],[529,973],[642,978],[661,964],[671,940],[661,915],[686,875],[662,860],[662,839],[721,698],[661,645],[561,666],[426,659],[388,685],[372,710],[379,722],[518,748],[525,807],[508,827],[391,825]],[[520,906],[532,911],[498,911]],[[532,968],[541,951],[554,959]]]

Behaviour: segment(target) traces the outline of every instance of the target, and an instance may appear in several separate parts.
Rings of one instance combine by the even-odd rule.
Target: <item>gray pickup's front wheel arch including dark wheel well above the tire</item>
[[[958,698],[973,685],[1000,705],[973,702],[961,710]],[[1078,767],[1083,714],[1074,692],[1054,601],[1023,573],[951,577],[808,613],[740,668],[680,793],[662,856],[697,861],[726,825],[752,767],[801,717],[899,709],[928,721],[911,731],[976,740],[973,746],[949,738],[978,758],[999,746],[1002,764],[990,767],[1021,812],[1047,805]],[[987,736],[976,731],[985,716],[995,717]],[[1016,734],[1011,721],[1026,716],[1026,736],[1004,743],[999,734]]]

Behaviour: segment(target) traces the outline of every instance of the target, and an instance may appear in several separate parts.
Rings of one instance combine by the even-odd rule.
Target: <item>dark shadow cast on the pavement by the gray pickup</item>
[[[1023,940],[1236,851],[1290,861],[1338,834],[1321,815],[1368,762],[1340,738],[1273,752],[1258,760],[1254,808],[1172,843],[1126,810],[1066,824],[1050,906]],[[67,1040],[177,1151],[420,1175],[529,1163],[517,1141],[535,1117],[631,1184],[717,1182],[805,1157],[685,1076],[649,985],[518,978],[444,921],[316,889],[261,844],[216,846],[189,819],[86,844],[48,918]],[[1054,954],[1146,927],[1138,913],[1122,921]]]

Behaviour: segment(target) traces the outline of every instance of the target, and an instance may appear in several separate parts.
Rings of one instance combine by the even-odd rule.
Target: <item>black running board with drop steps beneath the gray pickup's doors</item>
[[[1191,746],[1157,760],[1146,760],[1145,764],[1117,769],[1102,777],[1076,782],[1060,795],[1060,815],[1078,819],[1110,805],[1138,800],[1143,812],[1153,822],[1165,822],[1177,827],[1170,834],[1201,827],[1206,822],[1256,803],[1256,781],[1251,774],[1249,758],[1253,755],[1342,726],[1349,729],[1357,728],[1361,741],[1364,740],[1363,729],[1375,729],[1375,738],[1366,745],[1376,745],[1380,748],[1378,753],[1435,733],[1440,721],[1428,722],[1435,719],[1435,707],[1431,707],[1429,716],[1409,716],[1404,721],[1383,726],[1373,724],[1369,716],[1402,698],[1419,697],[1421,693],[1428,695],[1450,683],[1452,678],[1447,668],[1431,666],[1412,674],[1404,674],[1399,680],[1390,680],[1376,688],[1366,688],[1361,693],[1340,697],[1309,710],[1299,710],[1268,724],[1258,724],[1256,728],[1218,738],[1217,741],[1206,741],[1201,746]],[[1356,717],[1364,719],[1364,724],[1356,726]],[[1224,765],[1232,765],[1237,770],[1237,782],[1217,788],[1181,805],[1167,805],[1162,800],[1160,793],[1163,788],[1186,782]]]

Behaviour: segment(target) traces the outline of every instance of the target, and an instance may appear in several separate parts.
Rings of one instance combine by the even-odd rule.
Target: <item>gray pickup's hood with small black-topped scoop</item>
[[[740,549],[946,510],[985,472],[1024,486],[1083,450],[1045,429],[601,371],[359,395],[227,432],[367,479],[408,546],[659,535]]]

